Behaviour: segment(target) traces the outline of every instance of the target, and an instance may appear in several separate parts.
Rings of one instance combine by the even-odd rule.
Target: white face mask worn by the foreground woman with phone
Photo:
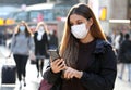
[[[78,39],[83,39],[86,37],[90,29],[86,28],[85,24],[73,25],[71,26],[71,33]]]

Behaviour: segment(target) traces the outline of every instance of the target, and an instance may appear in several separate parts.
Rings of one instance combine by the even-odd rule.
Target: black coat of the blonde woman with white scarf
[[[35,41],[35,54],[45,55],[47,56],[47,49],[49,47],[47,34],[43,35],[43,39],[40,41],[37,40],[38,33],[34,34],[34,41]]]

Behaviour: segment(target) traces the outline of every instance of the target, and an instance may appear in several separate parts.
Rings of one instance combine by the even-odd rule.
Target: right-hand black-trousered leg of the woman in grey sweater
[[[21,62],[24,86],[26,86],[25,77],[26,77],[26,64],[27,64],[27,59],[28,59],[27,55],[23,55],[23,56],[22,56],[22,62]]]

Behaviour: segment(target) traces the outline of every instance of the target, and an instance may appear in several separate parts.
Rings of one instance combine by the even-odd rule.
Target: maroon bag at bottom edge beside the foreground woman
[[[52,85],[49,83],[46,79],[43,79],[40,81],[40,86],[38,90],[51,90],[51,88],[52,88]]]

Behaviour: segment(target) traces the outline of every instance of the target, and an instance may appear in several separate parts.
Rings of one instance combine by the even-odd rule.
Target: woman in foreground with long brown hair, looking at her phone
[[[61,78],[59,90],[114,89],[116,55],[86,4],[76,4],[71,9],[60,55],[61,59],[50,62],[50,67],[44,74],[44,78],[53,86]],[[56,90],[55,87],[51,90]]]

